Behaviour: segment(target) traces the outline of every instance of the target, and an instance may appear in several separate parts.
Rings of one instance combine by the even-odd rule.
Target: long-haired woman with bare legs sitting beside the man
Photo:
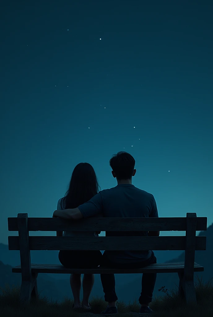
[[[99,192],[99,184],[92,165],[79,163],[75,166],[65,197],[59,199],[57,210],[77,208],[86,203]],[[98,236],[98,232],[92,231],[57,231],[57,236]],[[59,261],[67,268],[92,268],[97,267],[101,260],[100,251],[59,251]],[[85,264],[87,263],[87,264]],[[81,274],[70,274],[70,286],[73,292],[73,308],[91,309],[89,296],[94,285],[94,274],[84,274],[83,277],[83,301],[80,302]]]

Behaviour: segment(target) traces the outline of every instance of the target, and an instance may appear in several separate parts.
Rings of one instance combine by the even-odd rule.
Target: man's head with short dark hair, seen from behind
[[[124,151],[113,154],[109,160],[109,165],[112,168],[113,177],[116,177],[118,183],[123,180],[126,180],[127,183],[132,182],[132,176],[135,175],[136,169],[134,169],[135,159],[131,154]]]

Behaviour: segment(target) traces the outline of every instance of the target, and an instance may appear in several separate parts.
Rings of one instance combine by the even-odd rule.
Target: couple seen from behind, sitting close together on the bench
[[[99,184],[93,167],[88,163],[75,166],[65,197],[59,199],[53,217],[79,220],[87,217],[158,217],[158,209],[152,194],[132,185],[135,175],[135,160],[127,152],[114,154],[109,161],[117,186],[99,191]],[[80,220],[81,221],[81,220]],[[57,236],[98,236],[99,232],[73,231],[57,232]],[[159,231],[106,232],[106,236],[159,236]],[[147,251],[59,251],[59,261],[67,268],[142,268],[157,259],[152,250]],[[157,274],[144,273],[142,291],[139,297],[140,313],[152,313],[149,303]],[[105,301],[108,306],[101,314],[117,314],[114,274],[100,274]],[[94,274],[84,274],[83,301],[80,303],[81,274],[70,275],[74,296],[73,308],[90,309],[89,296],[94,285]]]

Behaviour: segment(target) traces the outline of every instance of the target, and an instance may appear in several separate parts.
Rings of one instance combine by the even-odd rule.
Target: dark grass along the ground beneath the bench
[[[197,277],[195,290],[197,296],[197,305],[186,305],[183,300],[178,297],[178,288],[168,290],[162,286],[158,291],[160,296],[154,298],[150,307],[154,310],[153,317],[210,317],[213,312],[213,286],[211,279],[207,283],[203,283]],[[80,313],[86,313],[86,310],[73,310],[73,301],[68,297],[64,298],[63,302],[53,301],[46,296],[40,296],[38,301],[32,301],[29,307],[22,307],[19,301],[20,287],[8,286],[2,289],[0,294],[0,315],[4,317],[78,317]],[[100,314],[107,306],[107,303],[102,297],[93,297],[90,300],[92,309],[90,313]],[[117,302],[119,314],[117,317],[125,317],[125,313],[138,313],[140,305],[137,300],[125,304],[123,301]],[[122,315],[121,315],[122,314]],[[141,315],[143,316],[143,315]]]

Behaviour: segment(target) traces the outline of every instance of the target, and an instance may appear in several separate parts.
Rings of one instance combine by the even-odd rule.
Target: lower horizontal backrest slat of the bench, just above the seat
[[[68,237],[29,236],[30,250],[185,250],[186,236]],[[18,236],[8,237],[9,250],[19,250]],[[196,236],[195,250],[206,249],[206,236]]]

